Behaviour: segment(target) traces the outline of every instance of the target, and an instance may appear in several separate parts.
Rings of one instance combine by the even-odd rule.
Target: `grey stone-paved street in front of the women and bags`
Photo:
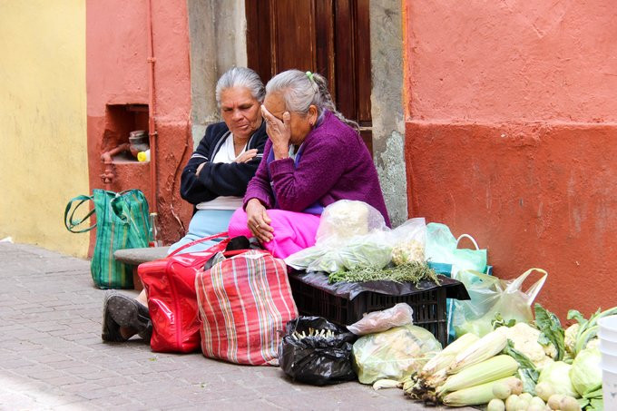
[[[86,260],[0,244],[1,410],[423,409],[398,389],[311,387],[276,367],[103,343],[103,294]]]

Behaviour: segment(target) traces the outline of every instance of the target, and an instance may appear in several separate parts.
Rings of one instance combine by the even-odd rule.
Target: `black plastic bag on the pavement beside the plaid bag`
[[[334,337],[296,339],[294,331],[331,330]],[[289,377],[314,386],[355,380],[351,348],[357,336],[321,317],[299,317],[287,323],[279,345],[279,365]]]

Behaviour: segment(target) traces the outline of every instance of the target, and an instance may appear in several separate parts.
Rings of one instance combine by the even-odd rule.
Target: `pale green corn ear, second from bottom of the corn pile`
[[[518,362],[510,356],[496,356],[481,363],[463,368],[460,372],[446,379],[443,386],[437,388],[437,395],[444,396],[448,392],[474,387],[504,377],[514,376]]]

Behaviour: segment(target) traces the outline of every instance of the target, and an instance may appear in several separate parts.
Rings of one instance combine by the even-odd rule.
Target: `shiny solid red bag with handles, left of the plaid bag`
[[[225,237],[200,252],[178,255],[197,243]],[[152,319],[150,347],[154,352],[189,353],[200,347],[200,322],[195,298],[195,275],[206,261],[225,250],[227,232],[192,241],[174,250],[167,258],[144,262],[137,268],[148,296]]]

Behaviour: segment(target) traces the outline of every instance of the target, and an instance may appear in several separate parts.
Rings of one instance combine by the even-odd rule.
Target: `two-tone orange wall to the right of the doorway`
[[[562,318],[617,305],[611,0],[405,2],[409,214],[531,267]]]

